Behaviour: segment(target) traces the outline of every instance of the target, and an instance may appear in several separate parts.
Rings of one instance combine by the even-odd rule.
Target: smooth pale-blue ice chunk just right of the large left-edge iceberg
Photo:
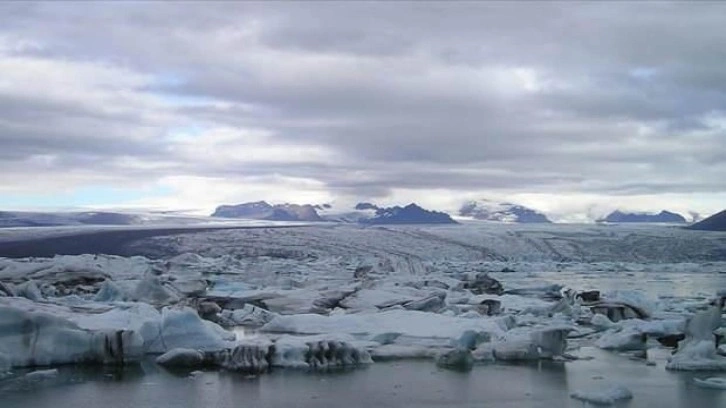
[[[221,350],[225,341],[214,323],[202,320],[194,309],[165,307],[161,319],[148,321],[141,327],[147,353],[165,353],[174,348]],[[224,330],[224,329],[221,329]]]

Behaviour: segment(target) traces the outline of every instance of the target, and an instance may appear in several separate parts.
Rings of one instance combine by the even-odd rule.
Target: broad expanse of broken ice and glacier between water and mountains
[[[595,360],[637,356],[632,364],[647,367],[644,377],[666,367],[726,367],[716,343],[726,330],[718,308],[726,234],[323,225],[158,236],[130,248],[136,256],[0,258],[0,308],[10,311],[0,319],[15,328],[37,323],[40,346],[23,346],[19,328],[0,334],[0,375],[116,361],[94,343],[105,345],[109,333],[139,350],[124,358],[166,353],[160,364],[196,367],[201,358],[205,367],[244,373],[387,360],[472,373],[512,361],[572,367],[586,364],[580,359],[591,347],[602,349],[588,357]],[[599,298],[585,301],[580,291]],[[685,340],[670,356],[679,336]],[[61,338],[69,340],[49,346]],[[610,391],[572,381],[564,395],[594,401]]]

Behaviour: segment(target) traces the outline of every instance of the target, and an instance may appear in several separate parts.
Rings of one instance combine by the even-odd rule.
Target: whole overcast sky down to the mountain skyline
[[[720,2],[1,2],[0,209],[726,207]]]

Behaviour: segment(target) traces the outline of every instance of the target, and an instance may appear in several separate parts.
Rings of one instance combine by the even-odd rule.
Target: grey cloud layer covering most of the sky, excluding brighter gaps
[[[724,12],[650,2],[3,4],[0,38],[43,45],[14,53],[120,65],[159,80],[128,92],[228,106],[132,106],[114,117],[0,94],[0,157],[57,154],[59,166],[133,173],[104,160],[123,154],[172,163],[158,177],[281,174],[346,195],[718,191],[725,135],[704,117],[726,106]],[[311,72],[300,61],[330,63]],[[509,92],[495,68],[529,69],[539,89]],[[149,120],[148,109],[171,119]],[[275,143],[335,155],[189,163],[164,134],[195,123],[266,129]]]

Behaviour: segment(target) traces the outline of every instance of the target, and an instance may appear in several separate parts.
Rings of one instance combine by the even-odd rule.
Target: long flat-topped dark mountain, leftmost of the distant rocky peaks
[[[255,201],[236,205],[220,205],[212,217],[247,218],[268,221],[323,221],[311,204],[268,204]]]

